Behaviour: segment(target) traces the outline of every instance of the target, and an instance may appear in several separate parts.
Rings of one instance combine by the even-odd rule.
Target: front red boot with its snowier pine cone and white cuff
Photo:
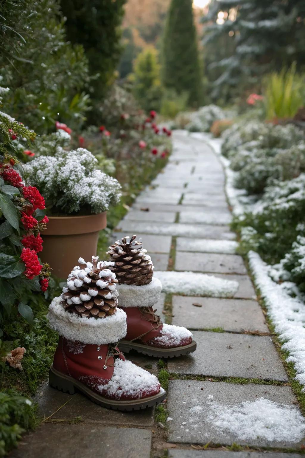
[[[118,341],[126,335],[126,314],[117,308],[113,262],[82,258],[67,287],[49,306],[48,325],[59,333],[49,373],[50,385],[64,393],[80,391],[91,401],[118,410],[138,410],[161,402],[157,378],[125,360]]]

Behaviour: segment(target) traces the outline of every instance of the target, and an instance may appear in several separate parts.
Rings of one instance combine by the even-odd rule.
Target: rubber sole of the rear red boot
[[[146,354],[147,356],[153,356],[155,358],[175,358],[184,354],[193,353],[196,350],[197,344],[195,340],[191,344],[184,345],[182,347],[175,348],[156,348],[144,344],[136,344],[135,342],[129,342],[128,340],[121,340],[118,344],[118,349],[122,353],[129,353],[130,350],[135,350],[138,353]]]

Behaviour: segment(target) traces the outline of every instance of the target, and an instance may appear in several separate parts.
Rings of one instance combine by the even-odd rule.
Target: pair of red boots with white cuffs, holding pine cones
[[[196,349],[186,328],[162,324],[155,315],[161,282],[134,239],[110,247],[112,262],[80,258],[86,267],[73,269],[48,312],[49,326],[60,336],[50,385],[118,410],[144,409],[166,398],[157,378],[125,360],[121,350],[171,358]]]

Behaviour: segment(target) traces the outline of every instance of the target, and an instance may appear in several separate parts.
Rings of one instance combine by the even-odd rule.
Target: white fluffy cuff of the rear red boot
[[[144,286],[117,284],[119,307],[150,307],[160,299],[161,281],[153,277],[151,283]]]

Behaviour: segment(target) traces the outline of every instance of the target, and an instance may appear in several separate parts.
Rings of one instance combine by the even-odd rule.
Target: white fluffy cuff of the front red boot
[[[126,313],[117,308],[106,318],[82,318],[64,310],[61,297],[54,297],[49,305],[48,326],[60,336],[84,344],[115,344],[126,336]]]

